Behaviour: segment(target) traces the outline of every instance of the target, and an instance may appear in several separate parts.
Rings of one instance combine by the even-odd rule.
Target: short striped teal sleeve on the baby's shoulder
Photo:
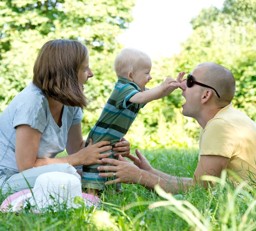
[[[116,108],[122,109],[130,107],[132,103],[129,102],[129,99],[138,92],[139,91],[131,84],[125,84],[122,86],[117,95]]]

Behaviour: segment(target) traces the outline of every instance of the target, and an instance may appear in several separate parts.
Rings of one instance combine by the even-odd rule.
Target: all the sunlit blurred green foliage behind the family
[[[116,36],[131,22],[135,0],[2,0],[0,1],[0,112],[32,80],[41,46],[50,39],[78,39],[90,51],[94,77],[85,85],[91,99],[84,110],[87,137],[99,118],[116,81],[112,65],[122,48]],[[202,9],[192,18],[192,35],[172,58],[153,60],[152,81],[157,86],[179,71],[191,72],[205,61],[221,64],[236,78],[234,107],[256,120],[256,0],[226,0],[221,9]],[[168,46],[168,44],[167,44]],[[132,147],[192,147],[198,145],[200,126],[181,113],[181,90],[148,103],[126,138]]]

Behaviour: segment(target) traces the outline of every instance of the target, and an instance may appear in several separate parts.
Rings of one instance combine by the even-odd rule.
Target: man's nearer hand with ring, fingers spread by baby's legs
[[[123,158],[119,155],[119,160],[115,159],[102,159],[103,164],[111,164],[116,166],[100,166],[98,167],[99,171],[109,171],[109,173],[99,173],[100,177],[114,177],[114,173],[116,172],[116,178],[111,181],[105,182],[106,185],[113,185],[118,183],[126,183],[126,184],[139,184],[140,179],[143,173],[139,167],[134,165],[131,161]]]

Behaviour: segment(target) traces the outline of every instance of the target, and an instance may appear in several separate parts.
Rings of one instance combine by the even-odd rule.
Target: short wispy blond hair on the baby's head
[[[116,56],[113,69],[117,76],[126,78],[129,71],[136,72],[145,62],[150,62],[150,57],[143,51],[134,48],[125,48]]]

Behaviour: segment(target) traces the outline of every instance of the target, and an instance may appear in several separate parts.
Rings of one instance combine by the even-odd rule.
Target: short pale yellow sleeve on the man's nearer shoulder
[[[236,128],[221,118],[210,121],[202,133],[200,155],[231,158],[238,144]]]

